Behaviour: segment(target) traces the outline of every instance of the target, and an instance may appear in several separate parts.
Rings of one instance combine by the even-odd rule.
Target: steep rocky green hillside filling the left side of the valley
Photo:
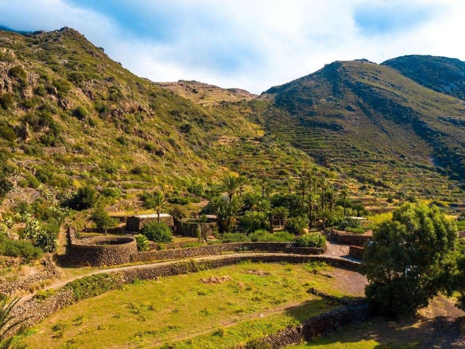
[[[223,101],[228,90],[212,88],[199,91]],[[73,29],[0,31],[0,147],[22,192],[84,182],[182,190],[231,170],[274,174],[276,159],[298,168],[311,160],[269,145],[251,121],[266,102],[227,93],[230,101],[202,107],[135,76]]]

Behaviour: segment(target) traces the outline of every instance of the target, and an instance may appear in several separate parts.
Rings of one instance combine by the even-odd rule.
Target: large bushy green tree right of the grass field
[[[457,228],[436,206],[405,204],[373,232],[365,247],[365,294],[372,311],[399,317],[451,292],[450,253]]]

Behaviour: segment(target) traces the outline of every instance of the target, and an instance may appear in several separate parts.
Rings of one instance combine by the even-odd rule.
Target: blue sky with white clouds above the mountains
[[[72,27],[153,81],[261,93],[334,60],[465,60],[463,0],[0,0],[0,25]]]

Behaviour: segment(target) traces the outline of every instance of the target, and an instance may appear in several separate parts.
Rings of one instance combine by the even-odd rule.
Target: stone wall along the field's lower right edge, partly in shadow
[[[289,327],[259,340],[237,346],[236,349],[251,349],[257,346],[256,344],[253,346],[252,343],[266,343],[272,349],[284,348],[302,340],[309,341],[314,336],[323,335],[341,326],[365,321],[369,316],[366,303],[351,304],[313,316],[297,326]]]

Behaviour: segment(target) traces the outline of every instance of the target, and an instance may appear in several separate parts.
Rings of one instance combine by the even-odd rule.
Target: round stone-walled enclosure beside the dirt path
[[[118,265],[131,262],[137,253],[136,239],[130,236],[97,236],[74,240],[71,262],[78,265]]]

